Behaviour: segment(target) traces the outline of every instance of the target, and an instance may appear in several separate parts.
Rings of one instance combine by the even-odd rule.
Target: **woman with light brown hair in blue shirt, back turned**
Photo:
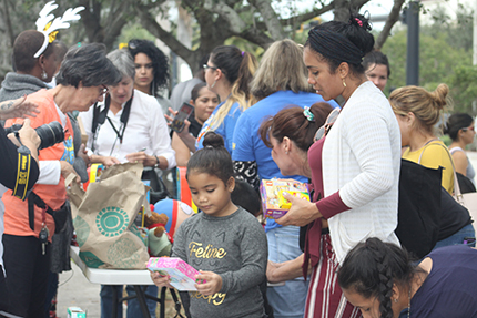
[[[290,105],[303,109],[324,101],[306,81],[307,71],[302,55],[303,48],[290,39],[270,45],[251,83],[251,91],[258,102],[247,109],[237,121],[233,139],[235,147],[232,153],[234,170],[238,177],[248,182],[256,191],[260,179],[284,178],[280,167],[273,162],[270,148],[257,134],[262,122]],[[329,101],[329,104],[333,107],[338,106],[334,101]],[[290,177],[307,182],[302,175]],[[271,261],[291,260],[302,254],[297,226],[282,227],[273,219],[267,219],[265,232]],[[266,293],[274,317],[303,317],[307,289],[303,277],[288,280],[283,286],[270,286]]]

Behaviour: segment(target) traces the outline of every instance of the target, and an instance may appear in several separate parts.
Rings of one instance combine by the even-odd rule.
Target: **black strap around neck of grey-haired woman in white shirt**
[[[108,111],[110,110],[110,104],[111,104],[111,96],[108,94],[105,100],[104,100],[104,109],[102,111],[100,111],[100,107],[98,105],[94,105],[93,109],[93,123],[91,126],[91,131],[93,133],[93,142],[92,142],[92,146],[91,146],[91,151],[94,152],[94,145],[98,139],[98,134],[100,132],[100,127],[102,124],[104,124],[105,120],[108,119],[109,123],[111,124],[112,129],[114,130],[114,132],[116,133],[118,139],[120,140],[120,143],[122,143],[123,136],[124,136],[124,131],[125,127],[128,125],[128,121],[129,121],[129,115],[131,113],[131,104],[132,104],[132,99],[134,98],[134,91],[131,95],[131,99],[125,103],[123,110],[122,110],[122,114],[121,114],[121,126],[118,130],[114,124],[112,123],[111,119],[108,117]]]

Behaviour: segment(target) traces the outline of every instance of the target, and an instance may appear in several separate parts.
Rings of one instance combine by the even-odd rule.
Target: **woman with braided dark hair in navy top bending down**
[[[416,266],[397,245],[368,238],[346,256],[338,284],[364,318],[476,317],[476,261],[477,250],[448,246]]]

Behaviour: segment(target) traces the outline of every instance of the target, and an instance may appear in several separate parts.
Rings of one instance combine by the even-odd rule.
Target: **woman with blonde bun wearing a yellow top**
[[[430,168],[444,167],[442,186],[453,194],[453,158],[435,130],[435,125],[442,120],[443,110],[448,104],[448,93],[449,88],[446,84],[439,84],[434,92],[418,86],[404,86],[390,93],[389,102],[399,123],[402,145],[408,147],[403,153],[403,158]],[[465,244],[466,238],[475,240],[474,226],[467,211],[450,213],[443,209],[439,225],[434,248]]]

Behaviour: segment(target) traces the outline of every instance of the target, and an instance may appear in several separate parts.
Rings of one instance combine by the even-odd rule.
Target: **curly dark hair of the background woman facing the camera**
[[[154,80],[151,83],[151,92],[158,94],[159,89],[168,88],[169,85],[169,59],[165,54],[154,45],[152,41],[132,39],[128,43],[129,51],[134,59],[138,53],[146,54],[152,61],[154,70]]]

